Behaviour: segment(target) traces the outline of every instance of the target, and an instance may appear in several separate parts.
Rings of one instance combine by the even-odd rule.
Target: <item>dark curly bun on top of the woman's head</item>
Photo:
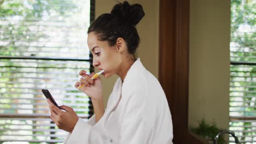
[[[132,26],[136,26],[145,15],[141,4],[130,5],[127,1],[116,4],[110,14],[117,17],[119,21]]]

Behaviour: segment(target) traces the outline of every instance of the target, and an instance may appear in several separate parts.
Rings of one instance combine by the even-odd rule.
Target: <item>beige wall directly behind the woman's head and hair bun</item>
[[[111,9],[117,4],[114,0],[95,0],[96,17],[103,13],[110,13]],[[120,1],[123,2],[123,1]],[[138,47],[137,56],[141,58],[144,66],[156,77],[158,77],[158,21],[159,21],[159,2],[155,0],[133,0],[130,4],[139,3],[142,5],[145,17],[137,25],[137,30],[141,38],[141,44]],[[112,92],[115,81],[118,76],[112,76],[109,79],[102,79],[104,92],[104,105],[106,106],[108,97]]]

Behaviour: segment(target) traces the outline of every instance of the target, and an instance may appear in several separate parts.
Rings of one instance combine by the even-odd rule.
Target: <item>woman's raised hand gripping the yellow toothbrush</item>
[[[80,82],[76,82],[74,86],[78,88],[80,85],[82,85],[82,83],[84,83],[85,86],[80,88],[80,91],[84,92],[92,100],[102,100],[101,78],[97,77],[96,79],[92,80],[91,77],[94,75],[94,73],[88,75],[86,74],[85,70],[81,70],[79,75],[82,76],[82,78],[80,79]]]

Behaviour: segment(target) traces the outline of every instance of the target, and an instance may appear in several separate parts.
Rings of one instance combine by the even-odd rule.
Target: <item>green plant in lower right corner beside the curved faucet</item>
[[[193,131],[195,134],[199,135],[200,137],[202,137],[203,139],[213,141],[214,137],[219,133],[219,131],[223,129],[219,129],[215,122],[207,123],[205,119],[202,118],[201,121],[199,122],[199,126],[195,128],[191,127],[190,130]],[[223,136],[219,137],[218,143],[225,143]]]

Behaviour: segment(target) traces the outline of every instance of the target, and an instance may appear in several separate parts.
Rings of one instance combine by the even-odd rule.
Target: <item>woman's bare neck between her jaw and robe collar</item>
[[[135,62],[135,59],[126,59],[126,61],[123,61],[121,64],[121,68],[119,69],[117,75],[121,78],[122,82],[124,82],[125,76],[127,75],[127,72],[131,68],[132,64]]]

